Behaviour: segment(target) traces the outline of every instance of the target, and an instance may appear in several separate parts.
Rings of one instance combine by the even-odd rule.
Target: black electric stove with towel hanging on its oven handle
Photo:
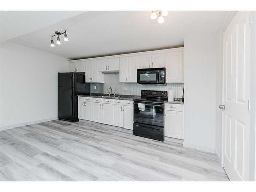
[[[134,135],[164,141],[164,101],[167,100],[167,91],[141,91],[141,99],[134,100]]]

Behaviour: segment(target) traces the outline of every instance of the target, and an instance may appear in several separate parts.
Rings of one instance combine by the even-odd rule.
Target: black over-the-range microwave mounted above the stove
[[[137,69],[137,83],[165,84],[165,68]]]

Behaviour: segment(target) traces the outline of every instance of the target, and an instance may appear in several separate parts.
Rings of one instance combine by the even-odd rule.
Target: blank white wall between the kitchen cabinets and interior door
[[[215,152],[217,35],[184,39],[184,146]]]

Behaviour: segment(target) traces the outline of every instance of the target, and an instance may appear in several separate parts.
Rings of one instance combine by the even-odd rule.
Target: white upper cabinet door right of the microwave
[[[183,51],[166,53],[166,82],[183,82]]]

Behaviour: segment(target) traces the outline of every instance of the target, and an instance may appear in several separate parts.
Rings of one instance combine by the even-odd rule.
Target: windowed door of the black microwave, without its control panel
[[[159,71],[152,69],[138,69],[137,83],[139,84],[158,84]]]

